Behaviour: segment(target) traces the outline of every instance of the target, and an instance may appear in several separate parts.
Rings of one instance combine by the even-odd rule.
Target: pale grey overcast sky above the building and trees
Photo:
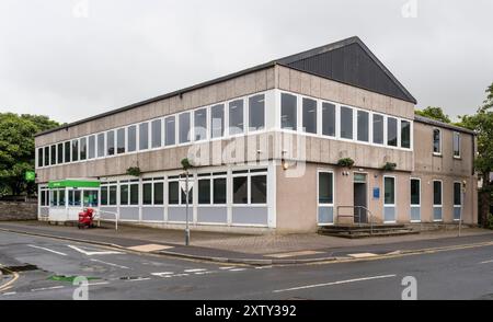
[[[0,0],[0,112],[73,122],[357,35],[419,107],[455,117],[493,82],[492,12],[491,0]]]

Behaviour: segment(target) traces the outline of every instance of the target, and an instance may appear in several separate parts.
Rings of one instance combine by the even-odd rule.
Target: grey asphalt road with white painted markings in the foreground
[[[77,286],[70,278],[74,276],[90,277],[88,294],[94,300],[400,300],[409,286],[402,285],[408,276],[416,280],[417,299],[493,299],[493,245],[256,268],[0,232],[0,264],[19,271],[12,274],[3,269],[0,300],[71,300]],[[57,280],[60,276],[66,280]]]

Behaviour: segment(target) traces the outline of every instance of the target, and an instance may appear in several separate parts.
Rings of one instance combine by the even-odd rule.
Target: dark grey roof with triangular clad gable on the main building
[[[125,112],[172,96],[182,95],[190,91],[223,82],[254,71],[267,69],[274,67],[275,65],[298,69],[303,72],[317,74],[337,82],[358,87],[416,104],[416,100],[408,92],[408,90],[395,79],[395,77],[393,77],[393,74],[383,66],[383,64],[378,60],[378,58],[368,49],[368,47],[362,42],[362,39],[355,36],[300,54],[272,60],[263,65],[244,69],[225,77],[216,78],[214,80],[174,91],[164,95],[156,96],[128,106],[77,120],[74,123],[70,123],[54,129],[36,134],[35,136],[37,137],[57,130],[67,129],[85,122]]]

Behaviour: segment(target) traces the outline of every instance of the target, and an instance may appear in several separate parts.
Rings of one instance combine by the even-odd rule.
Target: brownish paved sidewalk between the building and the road
[[[421,234],[347,240],[319,234],[246,235],[192,232],[190,246],[184,232],[121,225],[79,230],[41,221],[0,222],[0,231],[55,238],[85,244],[111,246],[127,252],[160,254],[217,263],[248,265],[288,265],[449,250],[462,245],[493,242],[493,231],[465,229],[422,232]]]

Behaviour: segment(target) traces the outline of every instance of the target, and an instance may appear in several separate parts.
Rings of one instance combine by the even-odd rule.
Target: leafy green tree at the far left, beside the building
[[[24,179],[34,170],[34,135],[59,126],[41,115],[0,113],[0,193],[19,195],[33,192],[34,183]]]

